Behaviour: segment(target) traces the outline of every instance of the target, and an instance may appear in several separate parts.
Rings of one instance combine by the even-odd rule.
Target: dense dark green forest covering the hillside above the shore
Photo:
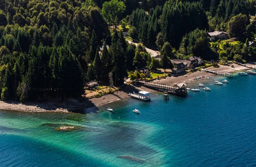
[[[128,71],[166,70],[174,67],[171,59],[254,61],[255,6],[255,0],[1,0],[0,99],[81,98],[88,81],[109,83],[111,73],[113,85],[122,85]],[[212,31],[234,39],[209,42]],[[145,46],[158,50],[161,61]]]

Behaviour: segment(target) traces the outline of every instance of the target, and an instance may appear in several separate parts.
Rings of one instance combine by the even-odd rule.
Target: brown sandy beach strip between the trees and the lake
[[[241,65],[237,65],[237,64],[233,64],[233,65],[234,65],[234,68],[231,68],[231,66],[220,65],[219,68],[211,68],[211,69],[213,71],[222,72],[222,73],[232,73],[232,72],[243,71],[248,69]],[[247,65],[253,66],[254,64],[247,64]],[[207,73],[205,71],[196,71],[192,74],[187,74],[186,77],[184,75],[177,76],[177,77],[169,77],[169,78],[160,79],[154,82],[157,82],[159,84],[172,85],[174,83],[181,83],[185,81],[186,84],[190,84],[192,82],[195,82],[193,78],[198,76],[205,76],[202,79],[206,79],[216,75]],[[20,103],[17,101],[7,101],[7,102],[1,101],[0,110],[16,110],[16,111],[22,111],[22,112],[76,112],[77,110],[85,110],[88,108],[99,107],[101,105],[106,105],[108,103],[116,102],[121,99],[126,99],[129,97],[128,96],[129,92],[141,91],[141,90],[153,92],[153,90],[145,87],[141,87],[139,85],[131,86],[131,85],[125,84],[125,88],[123,88],[123,91],[116,91],[112,94],[108,94],[100,98],[87,99],[87,102],[78,102],[77,100],[70,100],[67,103],[51,103],[51,102]]]

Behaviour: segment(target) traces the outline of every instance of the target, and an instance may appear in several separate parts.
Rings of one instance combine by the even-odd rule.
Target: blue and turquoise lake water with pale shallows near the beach
[[[151,93],[86,115],[0,111],[0,167],[254,167],[256,76],[213,84],[223,79],[200,81],[210,92]],[[65,124],[82,129],[55,130]]]

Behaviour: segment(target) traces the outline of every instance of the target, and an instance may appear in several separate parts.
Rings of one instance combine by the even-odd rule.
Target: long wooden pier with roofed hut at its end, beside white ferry
[[[176,96],[186,96],[187,89],[185,83],[180,83],[176,85],[164,85],[164,84],[157,84],[153,82],[143,82],[138,81],[138,83],[146,88],[150,88],[160,92],[166,92],[168,94],[176,95]]]

